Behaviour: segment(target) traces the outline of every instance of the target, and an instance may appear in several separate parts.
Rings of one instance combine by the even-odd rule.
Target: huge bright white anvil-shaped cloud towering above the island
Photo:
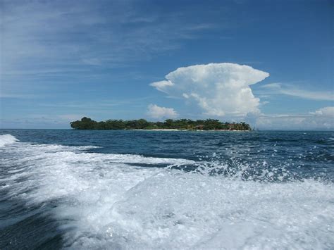
[[[259,112],[259,98],[249,85],[269,74],[247,65],[209,63],[178,68],[150,85],[169,96],[196,104],[205,115],[245,116]]]

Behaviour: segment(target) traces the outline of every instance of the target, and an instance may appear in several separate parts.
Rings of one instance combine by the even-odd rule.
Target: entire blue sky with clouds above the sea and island
[[[334,2],[0,0],[0,127],[334,130]]]

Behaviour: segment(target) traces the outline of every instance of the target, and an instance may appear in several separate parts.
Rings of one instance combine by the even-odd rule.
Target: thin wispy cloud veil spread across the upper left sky
[[[134,1],[19,2],[0,6],[4,84],[11,75],[48,77],[148,60],[216,28],[195,18],[185,22],[185,13],[141,11]]]

